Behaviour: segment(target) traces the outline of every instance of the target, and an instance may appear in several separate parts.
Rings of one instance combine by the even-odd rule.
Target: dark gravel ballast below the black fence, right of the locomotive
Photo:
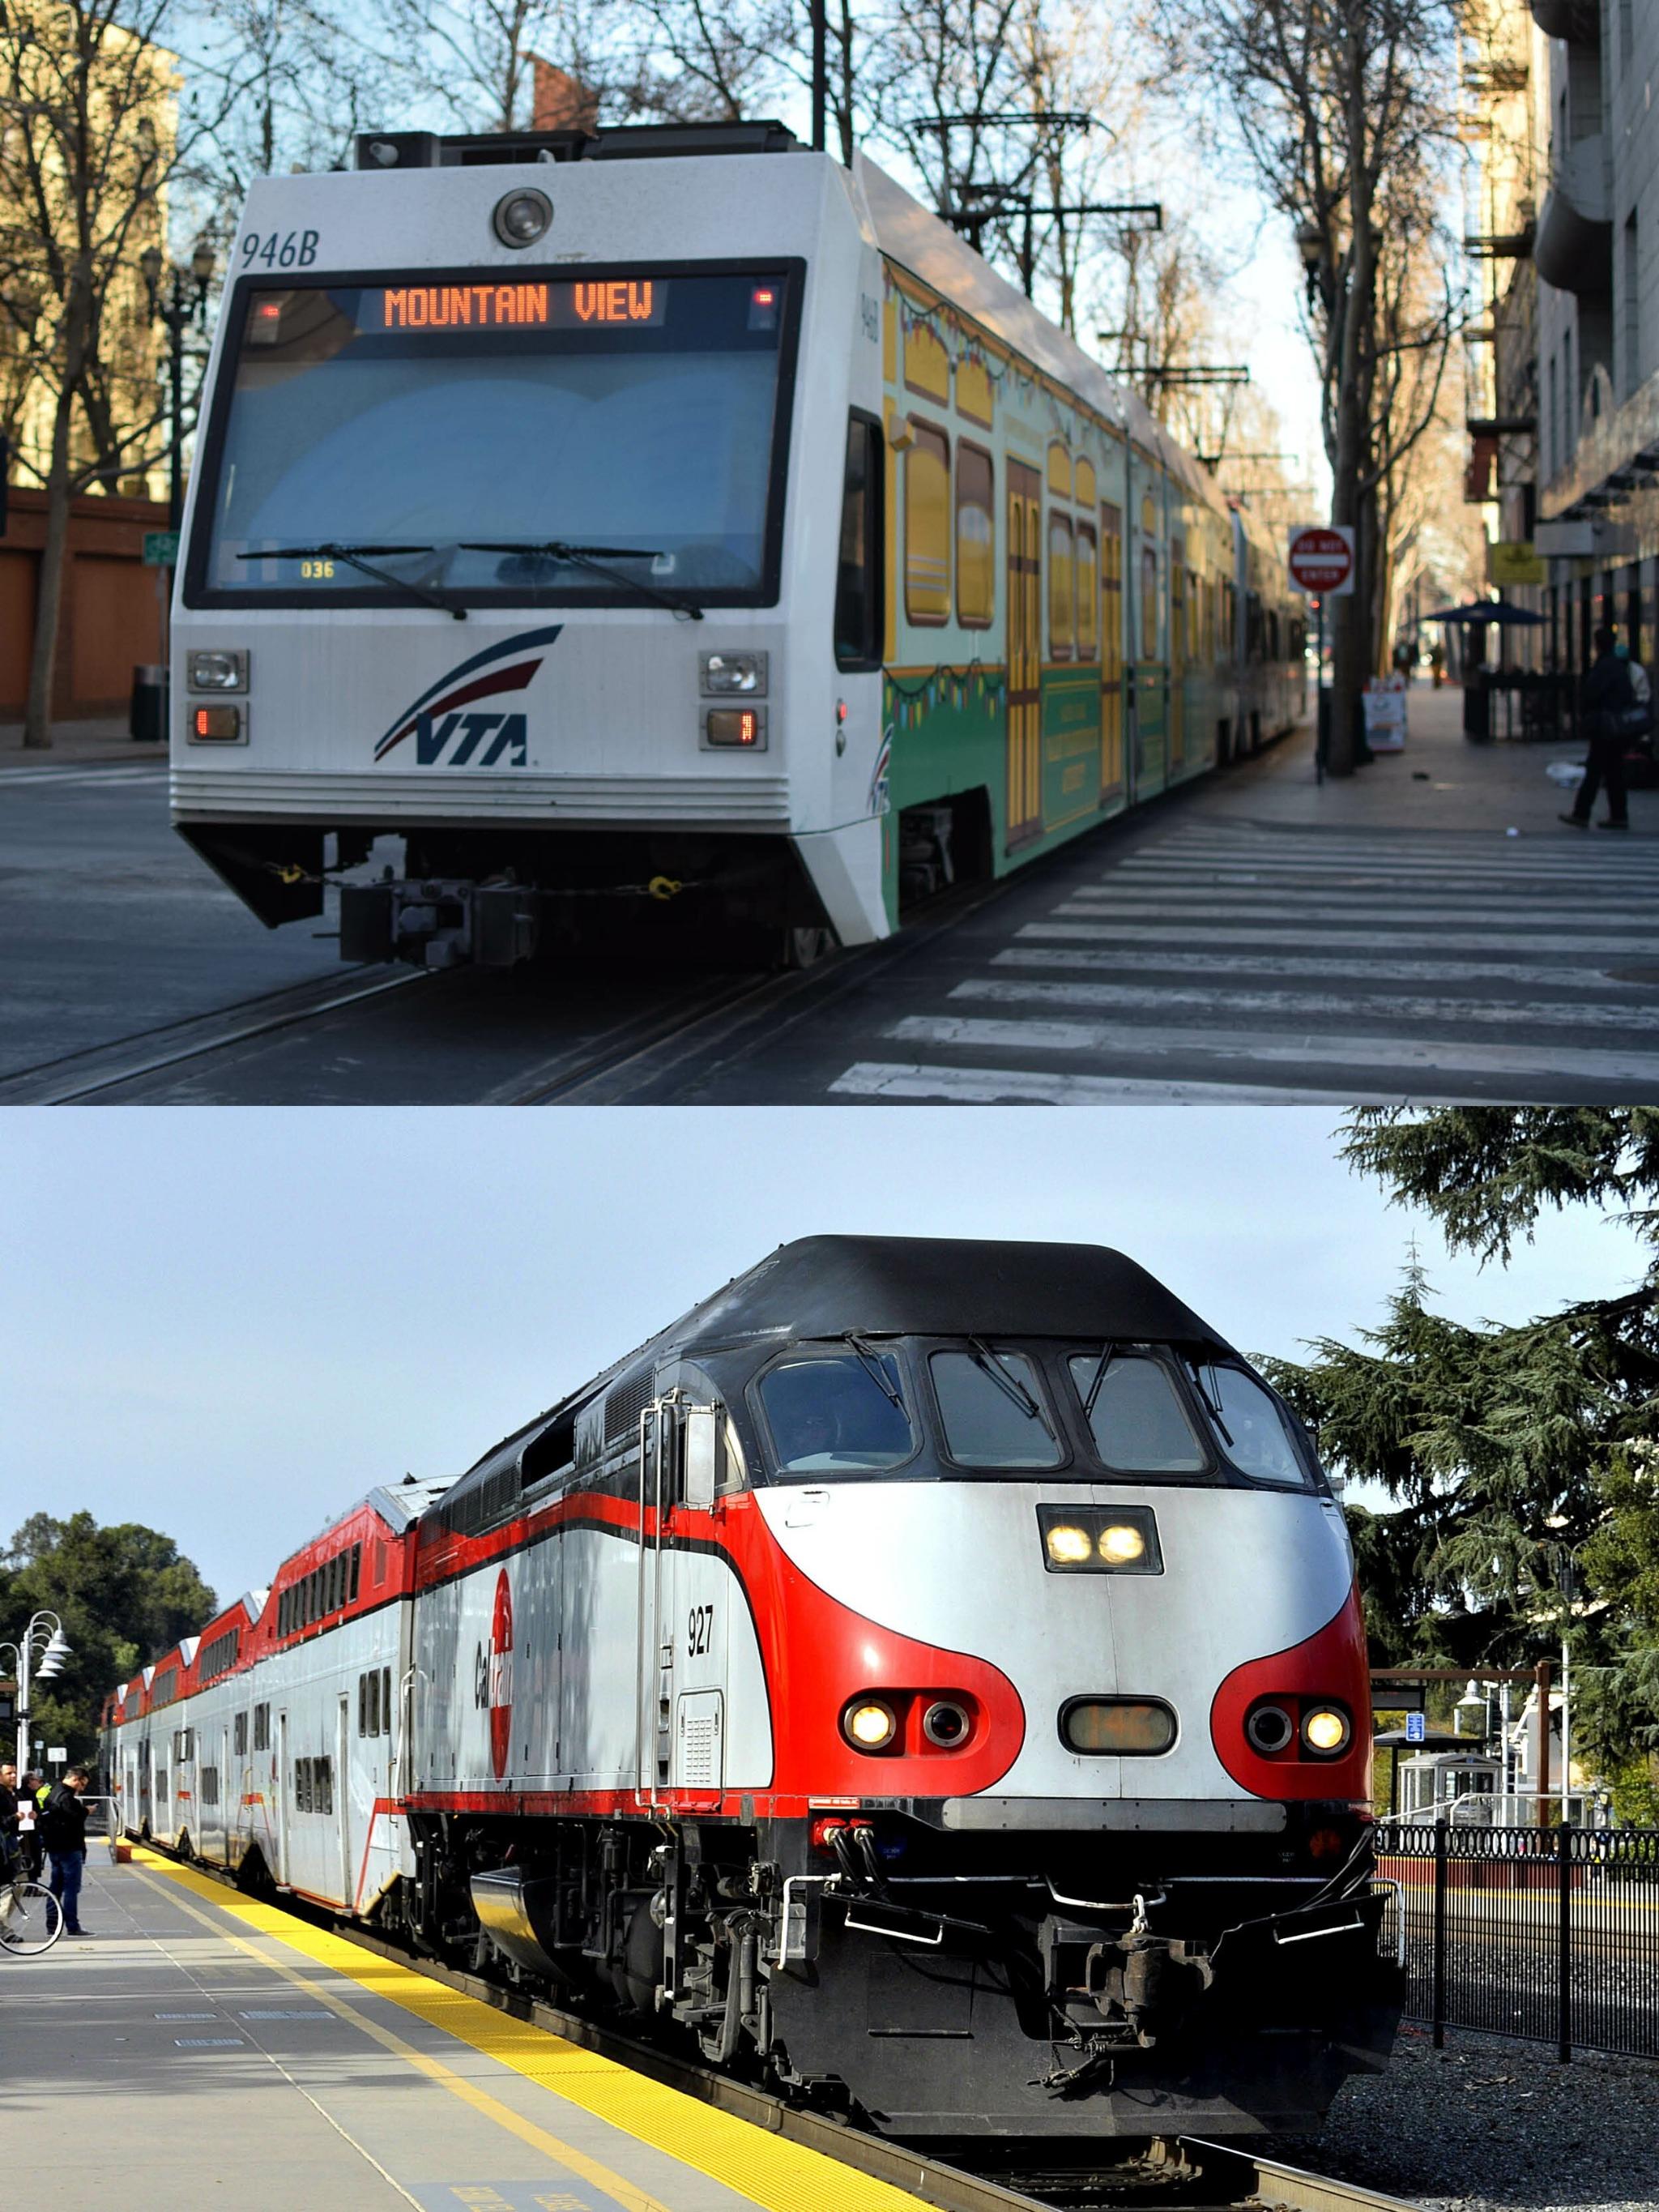
[[[1254,2146],[1252,2146],[1254,2148]],[[1385,2075],[1356,2075],[1321,2135],[1265,2157],[1433,2212],[1650,2212],[1659,2203],[1659,2064],[1402,2026]]]

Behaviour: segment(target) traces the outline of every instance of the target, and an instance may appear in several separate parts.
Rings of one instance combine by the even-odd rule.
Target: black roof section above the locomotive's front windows
[[[1206,1343],[1217,1332],[1108,1245],[984,1237],[799,1237],[703,1298],[659,1343],[741,1336],[1082,1336]]]

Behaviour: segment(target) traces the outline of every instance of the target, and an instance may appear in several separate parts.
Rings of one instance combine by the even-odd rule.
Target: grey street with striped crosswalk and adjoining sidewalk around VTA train
[[[1411,708],[1343,783],[1290,739],[787,978],[343,969],[330,920],[261,929],[173,836],[159,765],[7,763],[0,1099],[1652,1097],[1659,794],[1575,834],[1546,774],[1573,748]]]

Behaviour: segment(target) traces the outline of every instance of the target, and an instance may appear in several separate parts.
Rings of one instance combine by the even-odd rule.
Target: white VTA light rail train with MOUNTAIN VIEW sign
[[[1261,524],[872,161],[369,135],[254,184],[173,816],[268,925],[511,964],[865,945],[1292,728]],[[389,843],[378,843],[389,841]]]

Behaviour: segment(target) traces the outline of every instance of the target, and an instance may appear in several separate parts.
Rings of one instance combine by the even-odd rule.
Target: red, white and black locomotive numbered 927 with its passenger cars
[[[1398,2017],[1340,1509],[1091,1245],[783,1245],[104,1752],[139,1836],[900,2139],[1301,2130]]]

